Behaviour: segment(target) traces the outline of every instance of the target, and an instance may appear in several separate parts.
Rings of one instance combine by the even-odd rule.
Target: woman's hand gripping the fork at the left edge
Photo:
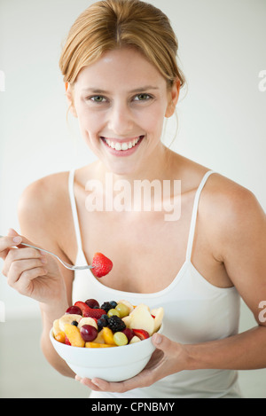
[[[20,246],[20,242],[34,245],[14,230],[0,239],[0,257],[4,259],[3,274],[7,283],[38,302],[59,301],[66,293],[66,287],[58,263],[51,255]]]

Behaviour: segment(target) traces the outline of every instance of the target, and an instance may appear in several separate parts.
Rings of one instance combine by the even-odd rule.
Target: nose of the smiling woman
[[[126,103],[113,103],[109,113],[108,128],[117,136],[124,136],[133,130],[133,114]]]

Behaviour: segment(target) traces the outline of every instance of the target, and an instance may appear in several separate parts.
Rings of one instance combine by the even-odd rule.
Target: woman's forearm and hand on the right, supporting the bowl
[[[253,370],[266,366],[266,328],[258,326],[245,333],[219,341],[183,345],[166,336],[153,334],[157,348],[145,370],[127,381],[107,382],[101,379],[77,381],[95,391],[124,393],[131,389],[151,386],[173,373],[183,370],[226,369]]]

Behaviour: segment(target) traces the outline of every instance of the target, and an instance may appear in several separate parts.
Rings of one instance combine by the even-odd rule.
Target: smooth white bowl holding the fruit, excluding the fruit
[[[162,332],[162,326],[158,332]],[[152,337],[113,348],[72,347],[56,341],[52,329],[50,339],[59,356],[75,374],[106,381],[124,381],[134,377],[145,368],[155,349]]]

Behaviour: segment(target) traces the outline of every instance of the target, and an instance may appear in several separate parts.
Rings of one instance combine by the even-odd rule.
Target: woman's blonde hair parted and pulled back
[[[173,85],[184,85],[177,65],[178,43],[168,17],[140,0],[103,0],[91,4],[74,21],[59,59],[64,82],[73,85],[83,67],[105,51],[134,47]]]

